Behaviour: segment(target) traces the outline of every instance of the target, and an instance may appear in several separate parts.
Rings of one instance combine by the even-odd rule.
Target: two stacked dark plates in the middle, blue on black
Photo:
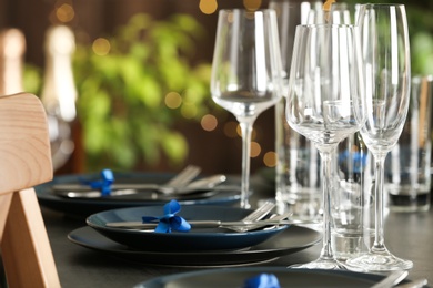
[[[241,220],[251,210],[193,205],[182,206],[187,220]],[[83,247],[143,264],[170,266],[230,266],[273,260],[312,245],[321,234],[299,226],[275,226],[245,233],[226,228],[194,228],[189,232],[113,228],[108,223],[140,222],[142,216],[161,216],[162,206],[143,206],[101,212],[88,217],[89,226],[69,234]]]

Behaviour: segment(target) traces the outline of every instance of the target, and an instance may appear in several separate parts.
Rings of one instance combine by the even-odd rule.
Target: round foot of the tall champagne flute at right
[[[381,253],[370,251],[360,257],[348,259],[345,267],[349,270],[383,272],[393,270],[409,270],[413,267],[411,260],[400,259],[387,250]]]

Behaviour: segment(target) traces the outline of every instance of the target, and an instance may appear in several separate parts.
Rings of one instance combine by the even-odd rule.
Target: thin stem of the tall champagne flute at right
[[[377,155],[374,156],[374,160],[375,237],[372,251],[380,253],[386,250],[383,236],[383,178],[385,156]]]

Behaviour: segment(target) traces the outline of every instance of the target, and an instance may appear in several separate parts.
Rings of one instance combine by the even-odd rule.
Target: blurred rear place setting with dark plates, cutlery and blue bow
[[[195,166],[191,165],[190,167]],[[189,169],[185,167],[184,171]],[[188,172],[188,171],[187,171]],[[107,209],[163,205],[170,199],[178,199],[182,205],[234,205],[239,202],[240,185],[235,177],[225,175],[192,175],[183,184],[175,184],[183,193],[175,195],[159,192],[158,185],[163,185],[174,177],[182,176],[174,173],[145,172],[111,172],[114,184],[110,187],[110,195],[102,196],[102,189],[92,188],[88,182],[101,182],[101,173],[57,176],[53,181],[36,187],[39,203],[47,208],[62,212],[70,216],[85,218],[90,214]],[[197,169],[195,169],[197,173]],[[203,186],[203,181],[205,187]],[[195,182],[195,184],[194,184]],[[88,184],[84,184],[88,183]],[[188,185],[192,187],[188,187]],[[121,187],[119,189],[118,187]],[[199,185],[198,187],[194,187]],[[211,186],[210,186],[211,185]],[[117,187],[118,186],[118,187]]]

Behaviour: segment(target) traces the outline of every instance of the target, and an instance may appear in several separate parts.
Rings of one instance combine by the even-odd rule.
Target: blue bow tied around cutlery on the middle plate
[[[191,225],[180,216],[175,214],[180,212],[180,204],[177,200],[170,200],[164,205],[164,216],[153,217],[153,216],[143,216],[143,223],[157,222],[158,226],[154,232],[158,233],[171,233],[171,230],[177,232],[189,232]]]

